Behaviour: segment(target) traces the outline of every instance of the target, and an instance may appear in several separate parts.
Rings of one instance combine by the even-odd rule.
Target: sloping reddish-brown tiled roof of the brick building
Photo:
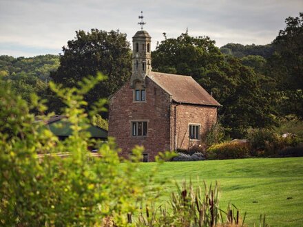
[[[191,76],[151,72],[148,77],[170,94],[175,102],[220,106]]]

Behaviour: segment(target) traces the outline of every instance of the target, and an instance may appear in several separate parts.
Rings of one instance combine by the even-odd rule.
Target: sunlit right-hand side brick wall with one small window
[[[171,105],[171,122],[176,122],[174,136],[171,138],[171,147],[175,149],[188,149],[193,144],[200,144],[201,141],[189,140],[189,124],[200,125],[200,138],[203,142],[207,131],[217,121],[217,108],[198,105]],[[176,135],[176,136],[175,136]]]

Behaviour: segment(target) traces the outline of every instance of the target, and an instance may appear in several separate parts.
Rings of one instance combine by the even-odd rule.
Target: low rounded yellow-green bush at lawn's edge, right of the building
[[[207,149],[207,159],[248,158],[249,144],[246,142],[222,142]]]

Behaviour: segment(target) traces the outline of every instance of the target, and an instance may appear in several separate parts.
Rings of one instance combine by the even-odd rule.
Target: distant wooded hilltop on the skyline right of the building
[[[249,55],[261,56],[262,58],[269,58],[275,51],[275,48],[271,44],[242,45],[240,43],[227,43],[226,45],[220,47],[220,51],[223,54],[236,56],[238,58],[243,58]]]

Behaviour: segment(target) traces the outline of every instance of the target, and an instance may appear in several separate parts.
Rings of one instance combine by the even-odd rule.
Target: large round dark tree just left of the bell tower
[[[108,79],[98,83],[86,96],[92,104],[98,98],[108,98],[120,88],[132,72],[131,52],[126,34],[92,29],[79,30],[74,40],[63,47],[58,70],[50,76],[54,83],[73,87],[87,75],[102,72]]]

